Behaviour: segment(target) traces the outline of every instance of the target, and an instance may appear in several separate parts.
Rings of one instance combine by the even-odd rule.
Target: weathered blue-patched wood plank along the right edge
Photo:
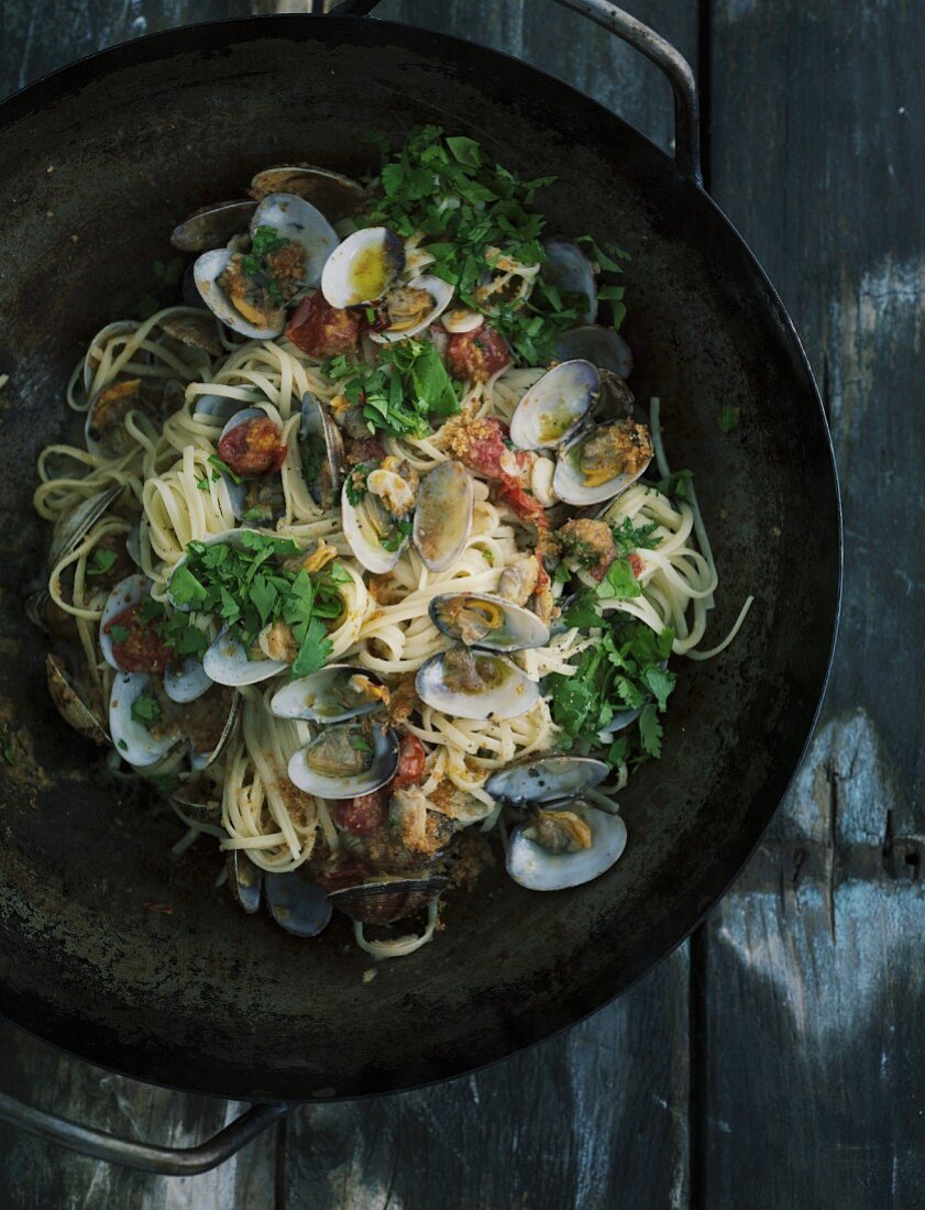
[[[712,183],[800,329],[845,505],[828,724],[707,934],[705,1205],[921,1202],[919,6],[721,0]]]

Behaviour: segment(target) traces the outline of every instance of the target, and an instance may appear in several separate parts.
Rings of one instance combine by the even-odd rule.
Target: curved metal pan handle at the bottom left
[[[141,1172],[157,1172],[160,1176],[196,1176],[200,1172],[208,1172],[209,1169],[224,1164],[288,1112],[285,1105],[253,1105],[206,1142],[200,1142],[195,1147],[161,1147],[156,1143],[118,1139],[106,1130],[94,1130],[69,1118],[45,1113],[0,1093],[0,1122],[39,1135],[46,1142],[70,1147],[71,1151],[79,1151],[83,1156],[93,1156],[109,1164],[135,1168]]]

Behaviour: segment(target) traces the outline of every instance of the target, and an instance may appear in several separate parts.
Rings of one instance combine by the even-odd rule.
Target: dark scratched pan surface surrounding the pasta
[[[359,172],[377,129],[437,120],[528,175],[551,227],[628,248],[625,332],[669,455],[698,476],[736,643],[678,662],[665,756],[622,796],[630,845],[605,878],[530,895],[496,871],[446,930],[362,981],[342,920],[316,943],[216,891],[202,843],[105,776],[53,714],[23,612],[46,535],[40,448],[89,336],[132,313],[167,234],[287,157]],[[50,171],[52,169],[53,171]],[[502,56],[404,27],[274,17],[106,52],[0,109],[0,716],[31,755],[0,765],[0,1012],[132,1076],[235,1096],[349,1096],[452,1076],[567,1026],[693,927],[770,818],[811,727],[838,606],[828,438],[798,342],[725,220],[613,115]],[[741,424],[719,432],[723,404]]]

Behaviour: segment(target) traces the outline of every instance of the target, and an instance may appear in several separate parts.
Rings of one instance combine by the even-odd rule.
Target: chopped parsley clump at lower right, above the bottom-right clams
[[[548,687],[553,720],[562,728],[562,747],[600,748],[599,734],[615,715],[640,710],[632,730],[612,742],[608,760],[638,764],[660,756],[658,715],[665,710],[675,687],[675,674],[661,664],[671,653],[673,639],[670,627],[657,634],[644,622],[618,621],[602,629],[594,646],[582,653],[574,673],[551,674]]]

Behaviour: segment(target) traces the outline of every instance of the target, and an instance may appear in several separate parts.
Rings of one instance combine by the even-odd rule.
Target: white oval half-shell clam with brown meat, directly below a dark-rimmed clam
[[[452,647],[415,678],[421,701],[457,719],[515,719],[534,704],[539,686],[503,656]]]

